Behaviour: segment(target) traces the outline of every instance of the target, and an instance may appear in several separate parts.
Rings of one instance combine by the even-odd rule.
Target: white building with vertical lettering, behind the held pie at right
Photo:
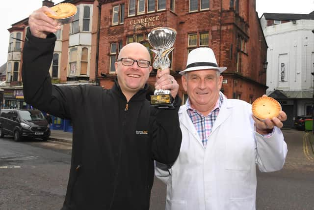
[[[314,93],[314,12],[264,13],[261,25],[268,45],[267,95],[287,113],[287,127],[296,116],[312,115]]]

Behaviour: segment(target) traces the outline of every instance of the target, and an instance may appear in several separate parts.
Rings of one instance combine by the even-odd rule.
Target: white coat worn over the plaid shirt
[[[285,163],[281,130],[275,127],[271,137],[263,137],[254,131],[251,104],[224,98],[204,148],[186,105],[179,119],[183,139],[178,159],[169,170],[159,164],[155,169],[167,184],[166,210],[255,210],[256,164],[260,171],[272,172]]]

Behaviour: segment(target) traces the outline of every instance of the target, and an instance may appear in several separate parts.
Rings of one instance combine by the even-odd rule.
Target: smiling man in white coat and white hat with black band
[[[166,210],[255,210],[256,164],[262,172],[282,169],[287,144],[278,118],[258,120],[251,104],[220,92],[226,67],[210,48],[191,51],[181,71],[186,104],[179,110],[182,144],[171,168],[156,163],[167,184]]]

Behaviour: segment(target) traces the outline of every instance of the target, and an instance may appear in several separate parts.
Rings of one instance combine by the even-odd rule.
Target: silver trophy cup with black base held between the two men
[[[148,41],[154,48],[155,53],[153,67],[158,70],[169,68],[169,53],[175,49],[173,44],[176,40],[177,31],[171,28],[154,28],[148,34]],[[155,90],[151,95],[151,104],[160,109],[174,108],[172,105],[170,90]]]

